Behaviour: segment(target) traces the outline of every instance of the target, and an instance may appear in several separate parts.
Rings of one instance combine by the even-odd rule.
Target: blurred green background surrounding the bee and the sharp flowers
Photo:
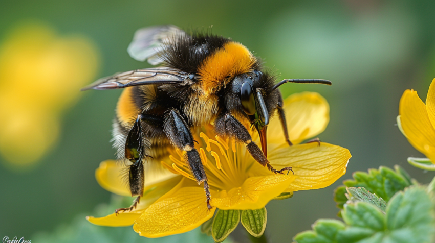
[[[355,171],[395,164],[420,182],[428,183],[434,176],[407,164],[409,156],[424,156],[396,126],[403,91],[414,88],[425,101],[435,78],[433,1],[2,0],[1,6],[0,125],[27,122],[15,127],[20,136],[8,135],[9,127],[0,135],[1,238],[24,236],[33,241],[32,236],[40,232],[50,235],[77,217],[85,221],[77,215],[92,214],[97,205],[110,201],[110,193],[97,184],[94,171],[101,161],[114,158],[111,124],[121,91],[78,90],[99,77],[148,67],[130,58],[126,48],[137,29],[152,25],[212,26],[214,34],[231,37],[264,58],[280,78],[332,80],[331,87],[287,84],[281,90],[284,96],[316,91],[328,100],[331,121],[319,138],[351,151],[353,158],[342,179],[351,178]],[[31,30],[49,33],[36,38]],[[27,43],[34,40],[42,43],[35,47],[42,53],[51,50],[57,55],[48,63],[59,64],[62,71],[57,73],[55,66],[49,65],[46,71],[55,84],[36,85],[39,88],[21,93],[30,87],[28,83],[48,80],[46,73],[32,78],[30,65],[39,65],[37,58],[29,65],[13,63],[14,58],[36,55],[26,51]],[[59,62],[69,57],[74,59],[72,64]],[[13,70],[5,69],[9,64],[15,65]],[[79,72],[86,75],[76,77]],[[56,85],[69,88],[62,95],[47,94],[49,87]],[[23,104],[14,108],[19,102]],[[56,106],[48,109],[46,103]],[[42,111],[54,118],[39,117]],[[40,136],[50,139],[27,140],[31,132],[26,129],[40,129]],[[25,152],[34,148],[39,148],[36,155],[28,157]],[[296,233],[310,229],[318,218],[335,218],[338,209],[332,193],[341,181],[270,202],[268,237],[288,242]],[[79,224],[91,227],[88,222]],[[239,242],[247,240],[242,231],[232,236]],[[136,236],[129,237],[133,240]],[[146,241],[136,238],[135,242]]]

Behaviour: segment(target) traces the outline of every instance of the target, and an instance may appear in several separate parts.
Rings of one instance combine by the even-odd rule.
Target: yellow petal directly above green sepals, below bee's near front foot
[[[225,210],[263,208],[270,200],[279,196],[295,178],[293,175],[250,177],[240,187],[212,195],[211,205]]]

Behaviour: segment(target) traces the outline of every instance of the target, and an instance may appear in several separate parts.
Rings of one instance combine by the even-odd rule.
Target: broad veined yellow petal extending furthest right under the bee
[[[296,179],[286,191],[311,190],[331,185],[346,173],[349,150],[322,142],[278,148],[270,153],[276,168],[292,166]]]

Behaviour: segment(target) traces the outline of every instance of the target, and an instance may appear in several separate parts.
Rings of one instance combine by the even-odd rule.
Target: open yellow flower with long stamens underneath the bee
[[[290,139],[296,143],[322,132],[329,122],[328,103],[317,93],[293,94],[286,99],[284,109]],[[136,232],[150,238],[184,233],[209,220],[216,208],[260,209],[283,192],[327,187],[345,174],[351,158],[347,149],[324,142],[320,146],[306,143],[290,147],[276,118],[269,125],[268,159],[277,169],[292,166],[294,175],[275,175],[257,163],[244,145],[210,131],[210,127],[200,129],[195,140],[199,142],[213,209],[207,210],[204,189],[189,173],[183,154],[170,149],[170,156],[161,164],[151,163],[163,165],[174,176],[148,181],[136,209],[88,220],[104,226],[134,224]],[[96,177],[105,189],[127,196],[129,191],[118,176],[121,169],[113,160],[104,161]]]

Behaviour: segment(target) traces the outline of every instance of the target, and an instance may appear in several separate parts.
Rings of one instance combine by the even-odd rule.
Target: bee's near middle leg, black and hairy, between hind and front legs
[[[210,205],[211,194],[204,166],[198,150],[194,148],[192,132],[178,110],[172,109],[165,113],[163,131],[172,146],[186,151],[185,161],[187,161],[187,165],[197,180],[198,185],[201,182],[204,183],[207,208],[210,210],[212,208]]]

